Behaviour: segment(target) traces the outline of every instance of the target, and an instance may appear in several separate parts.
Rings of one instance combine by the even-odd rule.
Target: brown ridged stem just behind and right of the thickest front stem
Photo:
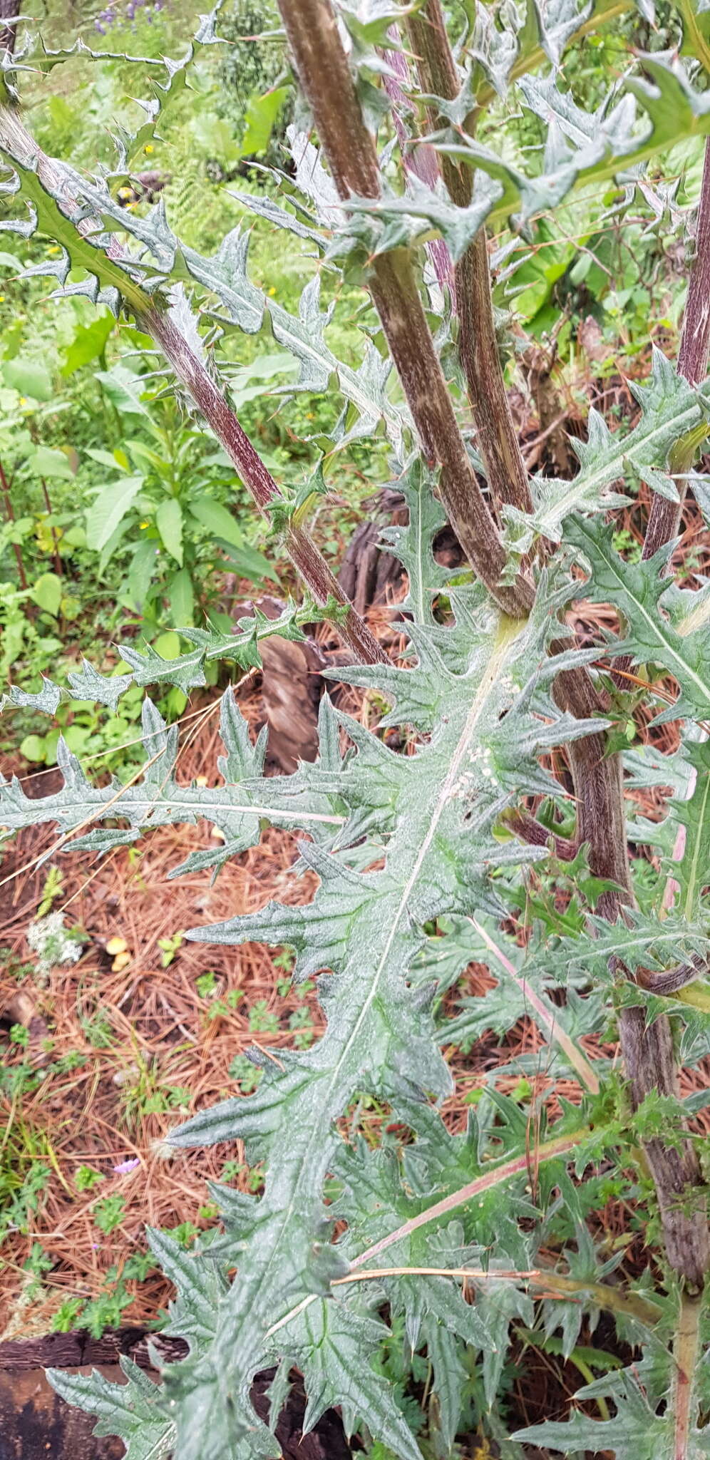
[[[408,31],[422,91],[453,101],[459,92],[459,76],[440,0],[427,0],[416,15],[409,16]],[[446,118],[435,114],[431,120],[434,126],[446,124]],[[473,131],[473,124],[472,114],[463,124],[465,130]],[[473,194],[470,169],[443,158],[441,172],[451,201],[457,207],[467,207]],[[479,229],[456,264],[456,308],[459,356],[488,485],[497,504],[510,502],[522,512],[532,512],[527,472],[498,358],[484,229]]]

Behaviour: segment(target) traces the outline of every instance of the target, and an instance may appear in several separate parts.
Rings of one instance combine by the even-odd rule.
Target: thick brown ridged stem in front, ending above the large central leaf
[[[380,169],[365,127],[330,0],[279,0],[298,79],[311,107],[339,196],[380,197]],[[501,587],[505,553],[459,431],[419,298],[409,251],[371,261],[370,289],[427,460],[441,467],[440,492],[459,542],[511,618],[524,618],[533,587],[519,575]]]

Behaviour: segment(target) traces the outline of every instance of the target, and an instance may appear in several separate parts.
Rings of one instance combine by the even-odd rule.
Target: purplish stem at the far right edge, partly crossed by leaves
[[[691,264],[688,280],[688,298],[682,323],[681,349],[678,352],[678,371],[685,375],[691,385],[698,385],[707,372],[707,356],[710,350],[710,139],[706,142],[706,164],[703,168],[703,184],[700,188],[698,223],[695,235],[695,257]],[[643,556],[653,558],[653,553],[678,536],[681,526],[682,502],[685,496],[684,474],[690,472],[695,456],[697,442],[688,441],[685,448],[673,457],[673,472],[678,473],[678,502],[653,493],[649,526]]]

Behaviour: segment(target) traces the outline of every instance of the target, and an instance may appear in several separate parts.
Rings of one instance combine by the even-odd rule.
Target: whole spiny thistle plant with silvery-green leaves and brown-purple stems
[[[187,1340],[187,1358],[162,1364],[159,1386],[133,1364],[123,1386],[99,1374],[51,1381],[98,1416],[98,1434],[120,1435],[130,1460],[276,1457],[294,1368],[308,1394],[305,1428],[340,1406],[348,1431],[397,1460],[459,1454],[472,1393],[476,1424],[507,1457],[529,1444],[619,1460],[707,1456],[710,1244],[704,1145],[692,1132],[704,1095],[682,1099],[679,1072],[710,1053],[710,599],[706,583],[681,587],[672,564],[687,489],[698,511],[709,501],[697,461],[710,429],[710,166],[697,215],[685,216],[678,362],[653,352],[647,383],[630,385],[634,425],[612,431],[589,413],[570,480],[526,472],[488,238],[510,228],[532,239],[541,215],[614,180],[621,213],[641,185],[663,210],[657,177],[669,149],[710,136],[710,12],[679,0],[669,22],[676,48],[630,47],[590,112],[565,88],[562,58],[621,15],[633,20],[625,0],[501,0],[456,13],[440,0],[279,7],[301,91],[295,180],[283,175],[280,201],[266,193],[243,201],[307,239],[320,263],[298,317],[250,279],[248,235],[229,234],[206,258],[175,237],[162,204],[127,215],[117,201],[161,105],[188,85],[194,48],[218,42],[218,13],[202,19],[180,61],[158,63],[145,124],[117,134],[115,164],[96,177],[45,156],[22,118],[23,69],[51,73],[67,53],[28,41],[6,54],[1,73],[3,226],[60,247],[37,266],[54,276],[56,295],[85,293],[152,337],[178,397],[225,448],[305,588],[278,622],[244,619],[229,637],[188,629],[191,648],[172,661],[124,645],[130,673],[105,679],[85,663],[69,689],[48,680],[37,695],[10,689],[10,704],[53,714],[63,694],[115,708],[131,683],[188,692],[205,683],[209,660],[241,672],[259,663],[264,635],[298,637],[320,615],[352,660],[337,679],[383,696],[392,710],[381,726],[402,727],[408,742],[408,753],[393,750],[326,695],[317,761],[264,780],[264,739],[251,742],[228,689],[216,788],[180,783],[177,729],[149,698],[142,778],[96,787],[60,743],[60,791],[28,799],[18,781],[1,783],[0,823],[15,832],[53,822],[53,853],[102,854],[205,818],[224,841],[174,875],[218,873],[270,823],[304,835],[294,876],[318,880],[307,905],[270,902],[186,934],[288,946],[297,981],[318,975],[327,1018],[308,1050],[254,1051],[257,1089],[169,1137],[175,1148],[244,1142],[266,1172],[259,1197],[212,1188],[221,1222],[191,1251],[149,1234],[177,1289],[168,1332]],[[488,126],[491,108],[508,102],[545,139],[524,164],[495,150]],[[327,343],[320,272],[362,291],[358,368]],[[409,510],[406,527],[386,531],[408,575],[399,663],[310,536],[321,474],[273,480],[231,409],[222,340],[262,328],[299,362],[297,390],[342,400],[326,480],[332,453],[373,435],[389,441]],[[643,559],[630,562],[614,526],[638,483],[652,507]],[[446,521],[470,565],[456,584],[432,552]],[[618,632],[580,647],[568,622],[580,597],[611,604]],[[678,726],[672,755],[619,736],[638,704],[656,724]],[[660,821],[634,804],[644,787],[666,788]],[[653,857],[641,901],[630,844]],[[542,875],[562,889],[564,917],[536,901]],[[447,1021],[440,996],[475,959],[498,984]],[[451,1133],[441,1050],[462,1031],[469,1041],[504,1032],[523,1012],[548,1044],[549,1080],[573,1085],[574,1099],[545,1105],[529,1086],[522,1105],[491,1077],[467,1132]],[[621,1064],[603,1041],[584,1045],[595,1034],[618,1038]],[[370,1096],[406,1139],[371,1149],[359,1130]],[[647,1222],[641,1280],[621,1279],[621,1254],[589,1221],[605,1202],[602,1168]],[[628,1365],[584,1384],[584,1407],[568,1421],[510,1432],[501,1396],[513,1327],[535,1326],[570,1355],[602,1313],[628,1345]],[[419,1353],[431,1367],[419,1432],[383,1364],[396,1343],[405,1369]],[[267,1368],[264,1422],[250,1390]]]

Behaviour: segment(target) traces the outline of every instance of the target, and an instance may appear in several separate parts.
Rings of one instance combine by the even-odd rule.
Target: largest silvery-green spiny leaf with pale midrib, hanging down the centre
[[[421,946],[418,926],[422,921],[446,910],[451,898],[460,901],[465,896],[467,902],[488,899],[486,873],[478,863],[475,851],[476,828],[481,837],[485,821],[500,804],[500,790],[495,788],[494,772],[488,781],[486,774],[476,771],[472,750],[481,743],[481,736],[491,734],[494,726],[498,726],[501,695],[504,699],[510,696],[510,680],[504,667],[523,657],[526,641],[527,634],[523,634],[520,641],[519,631],[503,629],[498,639],[485,638],[479,650],[472,650],[466,677],[473,698],[467,708],[462,705],[460,694],[456,701],[451,696],[451,702],[447,704],[444,680],[441,708],[446,704],[446,712],[438,718],[435,737],[418,756],[400,761],[408,775],[397,777],[397,822],[387,848],[384,872],[356,875],[335,863],[323,851],[305,850],[308,863],[317,869],[321,879],[321,888],[307,908],[294,910],[275,904],[263,914],[234,918],[191,933],[193,937],[212,942],[241,943],[254,937],[285,942],[297,948],[299,958],[307,956],[308,971],[324,965],[333,971],[320,981],[320,997],[332,1022],[314,1050],[292,1056],[282,1073],[272,1067],[272,1072],[264,1075],[257,1095],[222,1108],[212,1130],[212,1117],[206,1113],[172,1137],[183,1145],[202,1142],[209,1130],[212,1139],[224,1139],[229,1132],[232,1139],[256,1137],[260,1156],[267,1156],[283,1129],[283,1121],[288,1121],[291,1133],[288,1169],[280,1167],[273,1186],[272,1180],[267,1180],[260,1203],[259,1244],[250,1244],[247,1253],[243,1253],[238,1278],[218,1318],[215,1352],[226,1343],[228,1352],[234,1355],[228,1383],[240,1386],[243,1403],[247,1403],[247,1396],[238,1377],[243,1372],[241,1353],[244,1350],[245,1356],[244,1345],[253,1340],[256,1314],[269,1311],[273,1326],[273,1315],[283,1313],[286,1296],[283,1286],[294,1308],[313,1292],[308,1232],[317,1229],[321,1181],[339,1145],[333,1134],[327,1134],[333,1120],[352,1098],[354,1089],[364,1080],[373,1088],[373,1082],[380,1077],[378,1072],[383,1070],[387,1072],[387,1088],[392,1092],[405,1094],[415,1086],[424,1086],[443,1094],[447,1088],[446,1070],[431,1058],[431,1044],[422,1037],[421,1000],[408,991],[403,974]],[[409,673],[416,676],[419,670]],[[510,731],[513,733],[513,723]],[[358,756],[349,764],[356,765],[356,761]],[[424,794],[424,785],[430,784],[425,774],[427,762],[434,772],[431,799]],[[348,800],[346,781],[348,777],[342,791]],[[466,803],[475,807],[473,813],[466,815]],[[456,831],[457,825],[465,829],[465,841]],[[466,879],[460,883],[454,873],[454,858],[463,851]],[[495,844],[488,844],[485,866],[494,864],[498,854]],[[389,870],[390,866],[397,869],[396,877]],[[454,873],[453,880],[451,873]],[[346,981],[343,981],[345,972]],[[337,1002],[335,1002],[336,990]],[[253,1102],[256,1126],[250,1111]],[[218,1117],[218,1111],[213,1117]],[[285,1221],[288,1228],[283,1228]],[[282,1273],[280,1294],[276,1296],[269,1254],[273,1242],[286,1241],[286,1231],[292,1269],[286,1279]],[[247,1311],[251,1340],[247,1340],[244,1329]],[[278,1321],[276,1327],[282,1336],[280,1342],[286,1343],[291,1320],[286,1314],[283,1320]],[[280,1346],[276,1352],[279,1356],[283,1353]],[[207,1371],[203,1367],[200,1372]],[[221,1387],[225,1380],[225,1371],[215,1369],[210,1383]],[[193,1380],[188,1381],[186,1375],[187,1383],[191,1386]],[[172,1394],[178,1393],[178,1386],[180,1377],[175,1371],[171,1378]],[[184,1393],[187,1397],[187,1388]],[[216,1397],[215,1407],[218,1407]],[[371,1424],[367,1415],[362,1418]],[[216,1456],[216,1445],[215,1440],[210,1456],[212,1453]],[[180,1448],[178,1454],[183,1460]],[[190,1445],[184,1454],[191,1454]]]

